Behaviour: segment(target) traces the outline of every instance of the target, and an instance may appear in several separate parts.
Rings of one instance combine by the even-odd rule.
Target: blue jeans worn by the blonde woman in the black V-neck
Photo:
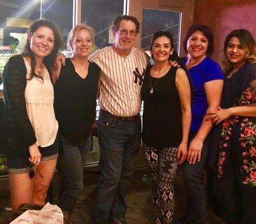
[[[83,191],[83,167],[91,148],[91,134],[80,144],[71,144],[60,136],[60,150],[57,169],[61,183],[58,206],[71,213]]]

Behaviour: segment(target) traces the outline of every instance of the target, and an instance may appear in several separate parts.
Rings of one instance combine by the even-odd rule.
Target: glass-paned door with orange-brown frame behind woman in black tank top
[[[136,46],[148,50],[153,32],[170,31],[174,46],[180,56],[185,56],[181,46],[190,25],[193,24],[194,0],[129,0],[128,14],[141,24]]]

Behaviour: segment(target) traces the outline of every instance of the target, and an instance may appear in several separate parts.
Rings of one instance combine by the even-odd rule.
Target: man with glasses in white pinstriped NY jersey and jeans
[[[132,45],[139,23],[118,16],[112,26],[115,44],[90,56],[101,69],[99,85],[101,176],[97,183],[93,223],[125,224],[125,196],[141,143],[141,86],[149,60]]]

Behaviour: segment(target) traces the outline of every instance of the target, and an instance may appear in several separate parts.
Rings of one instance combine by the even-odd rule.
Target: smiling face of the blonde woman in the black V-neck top
[[[93,48],[90,32],[86,29],[79,30],[71,43],[71,48],[77,57],[89,57]]]

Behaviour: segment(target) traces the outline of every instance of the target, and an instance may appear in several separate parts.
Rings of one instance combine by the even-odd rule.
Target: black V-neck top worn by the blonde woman
[[[96,94],[100,68],[89,62],[86,78],[66,59],[54,86],[54,109],[60,133],[71,143],[80,143],[91,132],[96,115]]]

